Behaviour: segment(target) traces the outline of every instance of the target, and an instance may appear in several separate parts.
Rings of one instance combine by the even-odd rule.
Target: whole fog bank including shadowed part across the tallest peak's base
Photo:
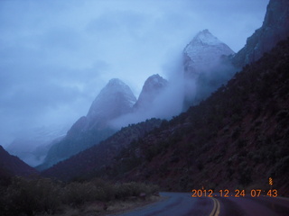
[[[109,126],[119,130],[128,124],[150,118],[171,120],[173,116],[186,111],[190,105],[205,100],[238,71],[228,60],[219,58],[198,67],[198,70],[194,71],[196,74],[183,76],[182,63],[182,53],[173,56],[173,60],[163,67],[168,77],[168,85],[155,96],[153,102],[144,103],[143,107],[137,107],[133,112],[110,121]]]

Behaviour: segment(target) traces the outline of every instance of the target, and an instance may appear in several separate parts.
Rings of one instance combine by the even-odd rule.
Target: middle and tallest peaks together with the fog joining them
[[[210,31],[200,31],[183,49],[182,66],[171,69],[168,81],[159,75],[148,77],[134,112],[110,121],[112,127],[120,129],[149,118],[170,120],[191,104],[200,103],[235,74],[237,69],[228,58],[233,54]]]

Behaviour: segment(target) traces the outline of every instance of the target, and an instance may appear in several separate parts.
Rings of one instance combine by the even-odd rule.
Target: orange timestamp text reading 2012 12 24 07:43
[[[260,197],[260,196],[268,196],[268,197],[277,197],[278,191],[276,189],[270,189],[270,190],[261,190],[261,189],[252,189],[250,191],[246,190],[238,190],[230,191],[228,189],[225,190],[203,190],[203,189],[193,189],[191,190],[192,194],[191,197],[245,197],[245,196],[251,196],[251,197]]]

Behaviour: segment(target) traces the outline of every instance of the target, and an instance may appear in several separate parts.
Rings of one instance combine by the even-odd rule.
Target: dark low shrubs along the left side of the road
[[[0,186],[0,212],[2,216],[65,214],[74,209],[90,213],[107,211],[112,202],[134,200],[157,193],[153,184],[112,184],[101,179],[64,184],[48,178],[28,179],[14,177],[8,186]],[[85,215],[85,212],[78,215]]]

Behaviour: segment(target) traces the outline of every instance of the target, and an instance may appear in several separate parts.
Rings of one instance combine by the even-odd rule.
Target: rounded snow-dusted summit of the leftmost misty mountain
[[[136,98],[130,87],[120,79],[113,78],[91,104],[87,117],[93,121],[108,121],[131,112],[135,102]]]

